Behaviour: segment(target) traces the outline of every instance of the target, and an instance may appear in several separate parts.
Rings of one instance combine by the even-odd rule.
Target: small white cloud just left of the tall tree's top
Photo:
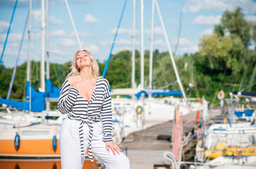
[[[217,25],[221,21],[221,15],[200,15],[195,18],[192,23],[195,25]]]

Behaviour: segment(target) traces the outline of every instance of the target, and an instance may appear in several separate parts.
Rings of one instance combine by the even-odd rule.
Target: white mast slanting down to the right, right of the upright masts
[[[185,92],[184,92],[183,86],[181,84],[180,76],[178,75],[178,70],[177,70],[177,67],[176,67],[176,63],[175,63],[174,58],[173,58],[173,53],[171,51],[171,46],[169,44],[169,39],[168,39],[167,34],[166,34],[166,30],[165,30],[165,27],[164,27],[164,21],[163,21],[163,18],[161,18],[161,13],[160,13],[160,9],[159,9],[157,0],[155,0],[155,4],[156,4],[156,7],[157,7],[157,12],[158,12],[158,15],[159,15],[159,19],[160,19],[160,22],[161,22],[161,27],[164,31],[164,37],[165,37],[165,40],[166,40],[166,44],[168,46],[169,54],[170,54],[170,57],[171,57],[171,63],[173,64],[174,73],[176,75],[178,85],[181,88],[181,92],[183,94],[183,97],[184,97],[185,101],[187,101],[187,97],[185,96]]]

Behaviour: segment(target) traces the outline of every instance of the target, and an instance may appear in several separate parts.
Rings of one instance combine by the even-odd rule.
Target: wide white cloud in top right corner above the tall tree
[[[243,8],[244,13],[255,13],[256,3],[253,0],[188,0],[185,11],[233,11],[237,6]]]

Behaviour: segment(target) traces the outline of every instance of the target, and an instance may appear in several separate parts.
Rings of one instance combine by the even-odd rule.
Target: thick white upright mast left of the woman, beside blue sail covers
[[[45,92],[45,80],[44,80],[44,0],[42,0],[41,6],[41,66],[40,66],[40,92]]]

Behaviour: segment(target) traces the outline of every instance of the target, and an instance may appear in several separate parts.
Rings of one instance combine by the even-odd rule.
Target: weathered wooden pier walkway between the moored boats
[[[209,112],[209,118],[221,114],[217,108]],[[196,112],[184,115],[183,132],[186,134],[195,127]],[[171,151],[171,142],[158,140],[159,134],[172,135],[173,121],[167,121],[148,127],[145,130],[133,132],[119,145],[121,149],[127,146],[127,155],[132,169],[151,169],[157,166],[170,166],[171,163],[164,158],[164,152]]]

